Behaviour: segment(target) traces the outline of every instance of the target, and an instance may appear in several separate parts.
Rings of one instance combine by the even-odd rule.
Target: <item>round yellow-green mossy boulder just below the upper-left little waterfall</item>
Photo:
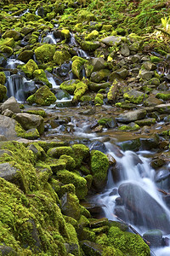
[[[35,49],[37,61],[40,61],[42,63],[53,61],[54,53],[55,46],[51,44],[43,44],[42,46]]]

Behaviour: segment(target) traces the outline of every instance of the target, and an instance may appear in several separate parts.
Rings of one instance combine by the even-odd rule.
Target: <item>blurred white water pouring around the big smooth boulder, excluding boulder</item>
[[[150,168],[150,164],[149,164],[150,160],[145,158],[141,154],[138,155],[133,153],[132,151],[126,151],[126,152],[121,151],[123,156],[119,157],[112,150],[111,143],[105,143],[105,146],[108,149],[108,153],[111,154],[116,160],[116,170],[119,170],[120,181],[117,183],[114,182],[111,175],[111,171],[110,171],[108,173],[108,182],[107,182],[105,191],[99,195],[94,195],[94,197],[92,198],[92,202],[95,202],[100,206],[104,206],[103,211],[105,212],[106,218],[110,220],[117,220],[114,210],[116,207],[116,198],[119,197],[120,195],[118,195],[118,193],[113,191],[114,190],[116,191],[116,189],[118,189],[118,187],[122,183],[137,184],[139,187],[144,189],[149,194],[149,196],[151,196],[154,199],[154,201],[156,201],[157,204],[159,204],[160,208],[162,209],[162,212],[167,214],[167,219],[168,219],[167,225],[169,225],[170,211],[166,207],[165,203],[162,201],[161,195],[156,188],[156,184],[154,183],[155,171]],[[133,201],[133,203],[134,202],[135,201]],[[141,206],[141,203],[144,204],[144,206],[147,205],[146,198],[144,198],[144,201],[142,201],[142,198],[139,198],[139,202],[135,202],[135,203],[137,204],[139,203],[140,206]],[[149,208],[152,209],[152,207],[153,206],[150,205]],[[153,218],[153,221],[155,221],[157,216],[155,214],[152,214],[152,216],[150,216],[149,208],[148,208],[148,216],[149,218]],[[141,207],[141,209],[143,208]],[[127,215],[126,210],[124,210],[124,214]],[[131,218],[127,218],[123,220],[126,221],[128,224],[131,224],[134,227],[134,229],[137,230],[141,235],[143,235],[144,232],[146,232],[147,230],[150,230],[150,228],[147,227],[147,224],[146,224],[147,221],[145,221],[145,219],[143,219],[143,221],[144,221],[144,224],[146,225],[142,225],[142,226],[139,226],[139,225],[135,226]],[[157,229],[161,230],[160,227],[158,227]],[[162,233],[164,233],[163,227],[162,227]],[[166,235],[166,237],[167,236],[168,235]],[[159,248],[152,248],[152,249],[156,254],[156,256],[170,255],[170,245],[169,247],[167,246],[167,247],[159,247]]]

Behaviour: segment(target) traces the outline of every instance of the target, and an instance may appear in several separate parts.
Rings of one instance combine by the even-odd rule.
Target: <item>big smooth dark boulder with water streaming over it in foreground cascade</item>
[[[128,209],[134,213],[136,224],[142,224],[152,229],[161,229],[169,233],[167,212],[142,187],[134,183],[123,183],[119,187],[118,193]]]

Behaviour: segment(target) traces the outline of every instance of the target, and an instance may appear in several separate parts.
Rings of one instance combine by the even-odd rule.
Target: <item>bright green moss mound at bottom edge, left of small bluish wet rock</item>
[[[139,235],[123,232],[119,228],[111,227],[108,233],[109,245],[120,249],[122,253],[139,256],[149,256],[148,247]]]

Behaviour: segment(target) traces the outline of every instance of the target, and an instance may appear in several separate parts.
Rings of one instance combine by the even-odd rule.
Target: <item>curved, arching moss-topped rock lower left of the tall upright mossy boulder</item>
[[[64,184],[73,183],[76,188],[76,195],[79,199],[84,199],[84,197],[87,195],[87,181],[84,177],[81,177],[75,172],[69,172],[67,170],[57,172],[56,177]]]

